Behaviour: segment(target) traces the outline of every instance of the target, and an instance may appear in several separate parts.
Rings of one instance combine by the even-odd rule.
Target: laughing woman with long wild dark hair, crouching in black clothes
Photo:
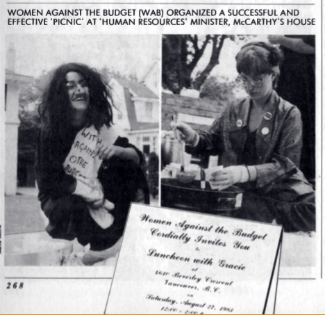
[[[96,70],[79,63],[58,67],[40,106],[35,165],[49,235],[90,244],[99,260],[105,255],[98,252],[121,238],[130,202],[141,192],[149,203],[142,153],[119,136],[112,106]],[[85,264],[97,262],[88,256]]]

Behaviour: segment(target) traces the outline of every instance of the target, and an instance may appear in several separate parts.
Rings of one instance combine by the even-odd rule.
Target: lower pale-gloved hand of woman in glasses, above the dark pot
[[[231,186],[249,181],[249,171],[246,166],[229,166],[211,174],[212,186]]]

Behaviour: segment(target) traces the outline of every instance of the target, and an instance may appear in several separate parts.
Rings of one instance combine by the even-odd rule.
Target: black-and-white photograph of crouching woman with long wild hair
[[[6,35],[6,266],[115,266],[159,205],[158,95],[159,35]]]

